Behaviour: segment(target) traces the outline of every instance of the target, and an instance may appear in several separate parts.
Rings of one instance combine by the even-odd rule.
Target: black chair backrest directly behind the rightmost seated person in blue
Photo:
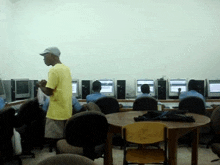
[[[187,110],[188,112],[201,115],[205,115],[206,112],[204,101],[195,96],[182,99],[179,103],[179,110]]]

